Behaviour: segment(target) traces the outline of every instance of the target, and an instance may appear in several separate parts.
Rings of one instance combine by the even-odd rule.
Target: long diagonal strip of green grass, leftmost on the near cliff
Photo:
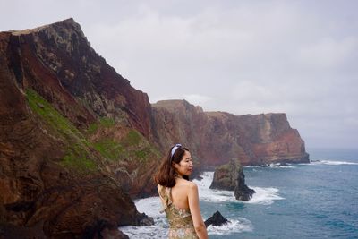
[[[35,90],[26,90],[26,96],[31,110],[40,116],[56,137],[63,139],[67,144],[60,164],[85,174],[96,170],[97,164],[90,158],[89,153],[91,144],[83,134]]]

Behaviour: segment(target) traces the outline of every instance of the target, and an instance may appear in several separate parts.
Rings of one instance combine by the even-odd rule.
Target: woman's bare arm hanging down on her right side
[[[192,222],[195,227],[196,234],[200,239],[206,239],[208,237],[207,227],[201,218],[200,205],[199,205],[199,193],[198,186],[191,183],[189,186],[188,193],[189,209],[192,213]]]

